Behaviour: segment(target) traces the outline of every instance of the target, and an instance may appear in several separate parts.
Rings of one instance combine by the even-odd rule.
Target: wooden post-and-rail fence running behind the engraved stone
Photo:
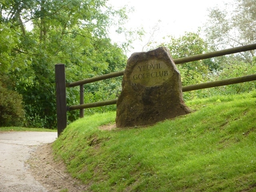
[[[250,50],[254,50],[254,49],[256,49],[256,44],[250,44],[250,45],[240,46],[240,47],[236,47],[236,48],[230,48],[230,49],[225,49],[225,50],[220,50],[220,51],[209,52],[209,53],[205,53],[205,54],[198,54],[198,55],[194,55],[194,56],[178,58],[178,59],[174,59],[174,63],[175,64],[183,64],[183,63],[192,62],[192,61],[196,61],[196,60],[224,56],[224,55],[228,55],[228,54],[250,51]],[[80,117],[83,117],[85,108],[93,108],[93,107],[116,104],[117,99],[84,104],[84,84],[122,76],[123,74],[124,74],[124,70],[118,71],[118,72],[113,72],[110,74],[101,75],[101,76],[96,76],[96,77],[92,77],[92,78],[88,78],[88,79],[84,79],[84,80],[80,80],[80,81],[76,81],[76,82],[66,83],[65,65],[64,64],[56,64],[55,65],[55,79],[56,79],[58,136],[61,134],[61,132],[67,126],[67,111],[80,110]],[[219,80],[219,81],[214,81],[214,82],[207,82],[207,83],[183,86],[182,92],[217,87],[217,86],[224,86],[224,85],[230,85],[230,84],[236,84],[236,83],[242,83],[242,82],[248,82],[248,81],[254,81],[254,80],[256,80],[256,74],[242,76],[242,77],[238,77],[238,78],[231,78],[231,79],[226,79],[226,80]],[[73,105],[73,106],[66,106],[66,88],[75,87],[75,86],[80,86],[80,104]]]

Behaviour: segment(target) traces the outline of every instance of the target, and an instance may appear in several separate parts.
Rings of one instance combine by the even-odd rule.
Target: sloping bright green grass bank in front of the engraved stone
[[[256,191],[256,92],[193,100],[154,126],[100,130],[116,113],[70,124],[54,142],[90,191]]]

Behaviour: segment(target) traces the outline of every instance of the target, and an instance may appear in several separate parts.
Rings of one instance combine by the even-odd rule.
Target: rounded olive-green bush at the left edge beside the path
[[[22,96],[0,84],[0,126],[22,126],[24,118]]]

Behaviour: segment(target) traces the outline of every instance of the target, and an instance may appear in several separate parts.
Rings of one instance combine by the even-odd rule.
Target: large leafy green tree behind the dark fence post
[[[5,0],[1,8],[7,48],[0,47],[0,68],[23,96],[27,126],[56,127],[54,64],[66,65],[68,82],[124,68],[126,56],[111,43],[108,27],[113,17],[122,24],[125,8],[112,10],[106,0]],[[77,97],[68,90],[69,105]]]

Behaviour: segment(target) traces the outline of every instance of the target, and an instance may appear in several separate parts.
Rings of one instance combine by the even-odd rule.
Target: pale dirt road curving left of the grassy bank
[[[57,132],[0,132],[0,192],[47,192],[25,162],[38,146],[56,138]]]

